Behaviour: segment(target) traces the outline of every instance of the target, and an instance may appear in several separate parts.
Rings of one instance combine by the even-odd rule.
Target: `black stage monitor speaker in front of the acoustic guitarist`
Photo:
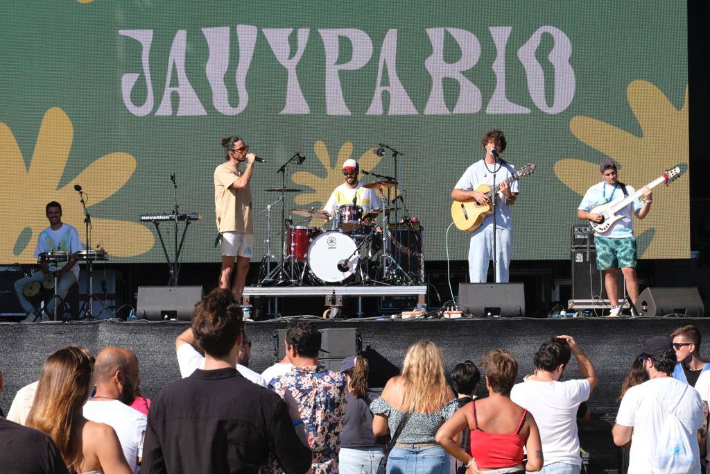
[[[522,283],[460,283],[459,308],[474,316],[523,317],[525,286]]]

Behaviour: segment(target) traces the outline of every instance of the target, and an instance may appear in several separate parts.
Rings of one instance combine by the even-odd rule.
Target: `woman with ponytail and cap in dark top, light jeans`
[[[338,470],[340,474],[374,474],[385,455],[387,437],[372,433],[370,404],[378,394],[367,387],[370,365],[365,357],[347,357],[340,372],[348,381],[348,403],[340,431]]]

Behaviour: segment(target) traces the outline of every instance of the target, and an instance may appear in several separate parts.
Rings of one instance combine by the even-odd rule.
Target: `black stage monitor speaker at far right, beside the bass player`
[[[635,306],[643,316],[679,314],[699,318],[705,313],[700,293],[695,287],[647,288],[638,295]]]

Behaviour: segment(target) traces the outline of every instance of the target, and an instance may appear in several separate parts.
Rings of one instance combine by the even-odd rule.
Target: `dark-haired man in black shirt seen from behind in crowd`
[[[253,473],[269,456],[285,473],[310,469],[277,394],[234,368],[241,348],[241,308],[227,289],[195,305],[192,333],[204,350],[204,370],[173,382],[153,399],[141,473]]]

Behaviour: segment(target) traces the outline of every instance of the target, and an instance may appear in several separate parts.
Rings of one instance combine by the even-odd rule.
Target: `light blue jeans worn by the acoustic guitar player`
[[[498,283],[508,283],[508,269],[510,268],[510,257],[513,255],[513,231],[501,229],[496,231],[496,254],[498,262],[496,265],[496,281]],[[488,277],[488,265],[493,255],[493,225],[479,227],[471,234],[469,244],[469,277],[471,283],[486,283]]]

